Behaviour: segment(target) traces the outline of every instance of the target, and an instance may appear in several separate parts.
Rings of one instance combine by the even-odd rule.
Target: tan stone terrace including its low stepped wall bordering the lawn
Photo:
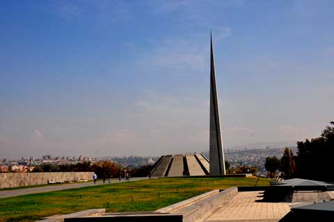
[[[214,190],[155,212],[102,213],[99,216],[66,217],[64,222],[95,221],[279,221],[299,203],[262,203],[263,191],[238,192],[237,187]],[[51,222],[51,221],[48,221]]]

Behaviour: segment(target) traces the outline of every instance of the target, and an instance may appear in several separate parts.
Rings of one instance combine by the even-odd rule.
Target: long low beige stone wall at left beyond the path
[[[78,180],[93,180],[93,172],[0,173],[0,189]]]

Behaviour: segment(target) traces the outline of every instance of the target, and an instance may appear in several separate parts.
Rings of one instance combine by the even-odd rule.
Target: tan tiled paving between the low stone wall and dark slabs
[[[292,203],[258,202],[262,198],[259,191],[239,192],[205,221],[279,221],[290,211]]]

